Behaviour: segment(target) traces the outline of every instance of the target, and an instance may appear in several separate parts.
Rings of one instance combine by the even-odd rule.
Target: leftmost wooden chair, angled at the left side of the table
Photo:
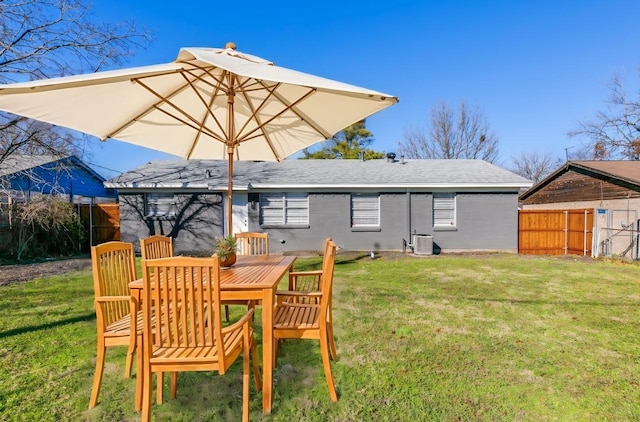
[[[89,409],[98,402],[107,347],[127,346],[125,377],[131,377],[133,355],[142,335],[142,313],[129,292],[129,282],[137,279],[133,244],[107,242],[91,247],[93,287],[95,293],[98,354]],[[138,351],[139,352],[139,351]],[[138,373],[142,364],[138,353]],[[141,385],[141,377],[136,377]],[[136,402],[140,409],[140,402]]]

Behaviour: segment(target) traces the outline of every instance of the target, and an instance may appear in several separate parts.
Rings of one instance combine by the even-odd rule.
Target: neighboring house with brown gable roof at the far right
[[[593,213],[593,255],[638,258],[640,161],[568,161],[520,196],[524,210]]]

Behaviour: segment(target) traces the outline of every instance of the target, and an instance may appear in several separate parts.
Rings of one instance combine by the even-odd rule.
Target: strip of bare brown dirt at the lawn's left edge
[[[52,260],[31,264],[0,265],[0,286],[91,268],[91,258]]]

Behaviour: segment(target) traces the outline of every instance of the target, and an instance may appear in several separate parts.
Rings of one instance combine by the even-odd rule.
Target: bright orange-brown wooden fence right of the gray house
[[[520,210],[518,253],[592,256],[593,209]]]

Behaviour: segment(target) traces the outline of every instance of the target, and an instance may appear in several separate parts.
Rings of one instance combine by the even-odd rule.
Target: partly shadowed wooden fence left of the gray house
[[[95,246],[110,240],[120,240],[118,204],[78,204],[77,211],[86,228],[86,245]]]

